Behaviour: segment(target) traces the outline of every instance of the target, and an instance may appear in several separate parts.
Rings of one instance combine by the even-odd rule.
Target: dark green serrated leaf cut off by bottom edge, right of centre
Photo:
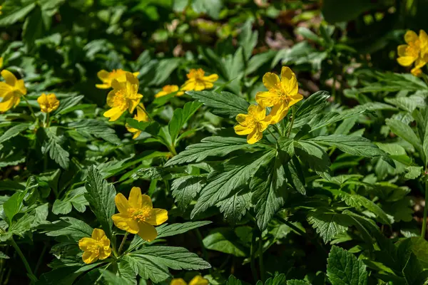
[[[364,262],[336,246],[332,246],[328,254],[327,276],[332,285],[367,285]]]

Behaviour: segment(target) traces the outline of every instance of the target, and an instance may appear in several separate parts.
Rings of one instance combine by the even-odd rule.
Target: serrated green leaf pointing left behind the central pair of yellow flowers
[[[211,108],[211,112],[220,117],[234,118],[238,114],[246,114],[250,104],[238,95],[229,92],[188,91],[188,95]]]

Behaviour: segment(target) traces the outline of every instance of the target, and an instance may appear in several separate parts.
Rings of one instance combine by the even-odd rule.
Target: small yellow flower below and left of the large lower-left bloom
[[[102,229],[93,229],[92,237],[83,237],[78,241],[78,247],[83,250],[82,259],[86,264],[106,259],[111,254],[110,239]]]

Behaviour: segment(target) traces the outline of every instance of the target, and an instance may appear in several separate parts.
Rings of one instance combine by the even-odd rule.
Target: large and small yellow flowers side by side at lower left
[[[119,213],[113,214],[111,219],[119,229],[131,234],[138,234],[148,242],[158,236],[156,228],[168,219],[168,211],[165,209],[153,209],[151,198],[141,195],[139,187],[133,187],[126,199],[122,193],[118,193],[114,199]],[[111,254],[110,240],[102,229],[94,229],[92,237],[83,237],[78,242],[83,250],[83,262],[90,264],[98,259],[106,259]]]

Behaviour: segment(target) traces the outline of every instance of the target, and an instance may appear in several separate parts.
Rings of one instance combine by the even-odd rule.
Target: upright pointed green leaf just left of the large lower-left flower
[[[85,198],[104,232],[106,232],[106,236],[111,239],[111,227],[113,225],[111,216],[116,209],[114,202],[116,190],[113,185],[103,179],[103,176],[93,166],[88,170],[85,187],[87,191]]]

